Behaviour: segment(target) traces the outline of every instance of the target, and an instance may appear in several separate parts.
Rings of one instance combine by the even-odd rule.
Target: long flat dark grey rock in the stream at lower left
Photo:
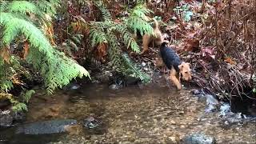
[[[58,119],[44,122],[31,122],[18,126],[15,134],[58,134],[66,132],[66,127],[76,124],[74,119]]]

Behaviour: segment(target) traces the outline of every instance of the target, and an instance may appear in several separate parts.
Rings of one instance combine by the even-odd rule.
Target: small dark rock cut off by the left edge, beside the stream
[[[9,127],[13,123],[13,114],[10,110],[0,110],[0,127]]]

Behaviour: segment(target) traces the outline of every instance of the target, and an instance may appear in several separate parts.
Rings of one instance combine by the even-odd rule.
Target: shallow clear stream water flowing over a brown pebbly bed
[[[175,143],[192,132],[203,132],[218,143],[256,143],[255,123],[226,128],[217,114],[204,109],[190,90],[178,92],[156,83],[122,90],[89,85],[32,98],[27,122],[78,120],[69,134],[51,143]],[[90,116],[102,124],[84,128],[82,121]]]

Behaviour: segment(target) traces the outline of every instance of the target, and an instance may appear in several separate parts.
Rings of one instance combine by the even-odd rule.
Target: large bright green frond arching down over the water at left
[[[27,60],[36,70],[41,71],[49,93],[57,87],[67,85],[72,78],[90,77],[82,66],[54,50],[41,30],[30,22],[15,18],[9,13],[1,13],[0,19],[0,25],[4,27],[2,41],[5,45],[9,45],[18,34],[24,34],[30,42],[30,57]]]

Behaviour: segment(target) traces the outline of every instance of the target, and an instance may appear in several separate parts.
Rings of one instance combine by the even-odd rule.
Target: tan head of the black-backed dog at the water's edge
[[[179,69],[179,73],[182,76],[183,80],[190,81],[192,79],[191,70],[190,70],[190,63],[182,62],[182,64],[180,64],[178,66],[178,69]]]

